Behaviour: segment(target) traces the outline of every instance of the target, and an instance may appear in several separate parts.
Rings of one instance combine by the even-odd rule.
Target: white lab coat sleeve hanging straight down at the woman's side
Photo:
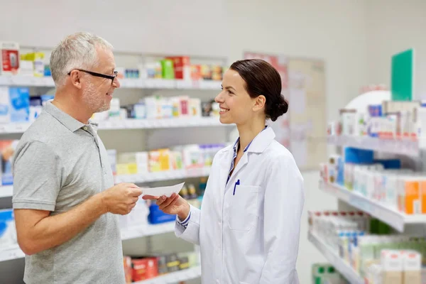
[[[265,185],[263,245],[267,257],[259,283],[297,284],[296,260],[305,197],[303,178],[293,156],[280,156],[271,163]]]

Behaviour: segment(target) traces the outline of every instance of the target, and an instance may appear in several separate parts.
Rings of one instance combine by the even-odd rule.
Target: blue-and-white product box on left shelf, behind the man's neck
[[[11,122],[26,122],[30,114],[30,89],[9,88]]]

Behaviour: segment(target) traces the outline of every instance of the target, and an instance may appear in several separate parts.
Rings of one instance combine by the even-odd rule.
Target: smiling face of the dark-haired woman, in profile
[[[225,72],[222,92],[214,98],[220,106],[219,114],[222,124],[246,124],[258,111],[256,107],[258,98],[252,99],[245,85],[246,82],[235,70],[229,69]]]

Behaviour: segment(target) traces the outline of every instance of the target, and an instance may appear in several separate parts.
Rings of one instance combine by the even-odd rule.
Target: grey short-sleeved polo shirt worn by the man
[[[16,148],[13,208],[60,214],[113,185],[97,125],[84,125],[48,102]],[[125,283],[118,216],[104,214],[65,244],[26,256],[23,280]]]

